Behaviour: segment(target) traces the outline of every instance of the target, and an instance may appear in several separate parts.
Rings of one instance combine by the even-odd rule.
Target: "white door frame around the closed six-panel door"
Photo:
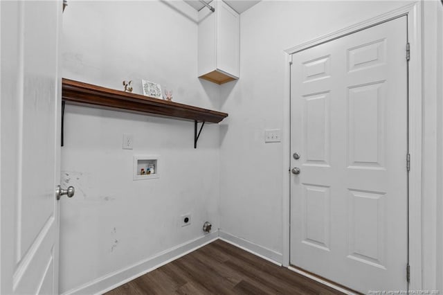
[[[355,33],[359,30],[406,15],[408,17],[408,42],[410,43],[410,61],[408,64],[408,145],[410,153],[409,172],[409,264],[411,290],[422,289],[422,5],[419,1],[386,12],[343,28],[334,33],[318,37],[309,42],[294,46],[284,51],[287,54],[284,79],[284,170],[288,173],[283,180],[282,218],[283,249],[282,265],[289,267],[290,229],[290,177],[291,173],[291,63],[292,54],[333,39]],[[406,58],[406,44],[405,44]],[[405,156],[406,166],[406,156]],[[406,261],[405,261],[406,280]]]

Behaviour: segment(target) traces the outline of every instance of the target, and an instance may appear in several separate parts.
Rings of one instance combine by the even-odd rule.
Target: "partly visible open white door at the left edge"
[[[1,1],[1,294],[57,294],[62,1]]]

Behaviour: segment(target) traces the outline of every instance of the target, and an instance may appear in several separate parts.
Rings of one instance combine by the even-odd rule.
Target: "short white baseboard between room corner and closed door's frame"
[[[249,242],[248,240],[244,240],[235,235],[231,235],[230,233],[226,233],[224,231],[219,230],[220,240],[224,240],[229,244],[233,244],[235,247],[239,247],[244,251],[248,251],[253,253],[264,260],[268,260],[270,262],[275,263],[275,265],[282,266],[282,253],[275,252],[271,249],[267,249],[265,247],[260,246],[259,244],[254,244],[253,242]]]

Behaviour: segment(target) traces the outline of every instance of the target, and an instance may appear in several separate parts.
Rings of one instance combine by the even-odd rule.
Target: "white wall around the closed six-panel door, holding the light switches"
[[[261,1],[242,14],[240,79],[221,87],[221,110],[230,114],[228,120],[221,123],[220,134],[221,231],[277,253],[282,253],[285,247],[282,237],[282,195],[284,175],[289,168],[284,166],[285,143],[264,143],[264,129],[280,128],[283,134],[287,134],[288,126],[283,123],[284,112],[288,111],[284,109],[287,77],[283,51],[408,3],[410,1]],[[441,15],[440,1],[426,3],[425,11],[431,13],[437,6]],[[431,23],[424,22],[424,31],[433,26]],[[436,262],[435,248],[437,232],[442,245],[443,229],[441,217],[440,225],[437,226],[435,222],[436,216],[442,213],[441,186],[440,194],[436,195],[436,192],[437,184],[440,185],[442,179],[443,129],[441,120],[440,125],[435,124],[435,83],[441,86],[442,81],[441,65],[435,66],[436,52],[440,55],[442,52],[441,26],[431,33],[426,31],[425,39],[435,39],[438,34],[439,48],[435,47],[436,43],[424,45],[425,56],[428,51],[432,53],[426,57],[425,64],[433,68],[424,70],[424,80],[428,79],[434,87],[431,93],[424,93],[424,114],[433,113],[430,117],[425,116],[424,121],[424,150],[431,152],[424,156],[425,185],[429,182],[424,195],[424,208],[431,211],[437,208],[437,196],[440,202],[438,211],[434,209],[431,215],[424,217],[423,228],[431,228],[432,231],[426,231],[423,240],[424,249],[428,251],[424,254],[424,260],[432,260],[431,265],[424,267],[424,286],[428,288],[435,287],[436,283],[442,284],[442,253],[439,250],[440,260]],[[441,56],[438,58],[441,63]],[[437,69],[439,75],[435,75]],[[439,91],[441,95],[441,88]],[[441,111],[442,105],[439,103]],[[437,127],[440,132],[440,162],[433,164],[437,153]],[[284,138],[284,142],[287,140]],[[435,174],[437,168],[438,174]],[[266,251],[263,253],[265,255]],[[440,267],[440,276],[435,275],[437,266]]]

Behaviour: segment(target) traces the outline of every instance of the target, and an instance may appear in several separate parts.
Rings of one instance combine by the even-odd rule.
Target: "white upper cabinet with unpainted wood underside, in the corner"
[[[199,11],[199,78],[223,84],[239,78],[240,16],[223,1]]]

